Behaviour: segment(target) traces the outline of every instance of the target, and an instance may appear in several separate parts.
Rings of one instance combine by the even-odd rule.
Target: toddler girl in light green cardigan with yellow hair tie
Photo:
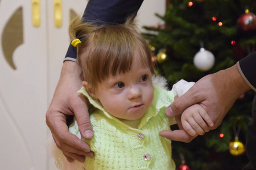
[[[176,123],[164,114],[174,101],[174,93],[164,89],[163,78],[154,76],[150,48],[137,30],[134,17],[119,25],[81,23],[76,18],[69,32],[75,39],[72,45],[77,48],[82,71],[83,87],[79,93],[91,104],[94,138],[85,142],[94,157],[86,158],[84,163],[76,160],[69,163],[64,156],[61,158],[60,152],[55,156],[57,166],[60,169],[175,169],[171,141],[158,135]],[[188,86],[192,85],[181,82],[175,92]],[[197,114],[196,118],[187,119],[204,131],[212,124],[200,105],[186,111]],[[205,121],[197,123],[199,120]],[[191,129],[199,133],[192,127],[195,125]],[[81,138],[75,118],[69,131]]]

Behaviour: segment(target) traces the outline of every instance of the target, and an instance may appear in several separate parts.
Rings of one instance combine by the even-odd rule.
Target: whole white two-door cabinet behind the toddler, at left
[[[36,27],[32,2],[40,9]],[[82,14],[87,1],[57,1],[58,27],[53,22],[54,2],[0,0],[0,169],[51,167],[45,114],[70,42],[69,15],[71,10]]]

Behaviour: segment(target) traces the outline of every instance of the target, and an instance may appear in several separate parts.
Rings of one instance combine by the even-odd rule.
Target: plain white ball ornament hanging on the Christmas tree
[[[204,48],[200,48],[200,51],[196,53],[193,62],[197,69],[208,71],[212,69],[215,58],[211,52],[205,50]]]

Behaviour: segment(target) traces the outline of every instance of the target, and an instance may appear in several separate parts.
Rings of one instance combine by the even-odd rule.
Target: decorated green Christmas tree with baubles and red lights
[[[254,14],[254,0],[168,1],[166,14],[156,14],[165,25],[145,27],[154,32],[145,35],[159,74],[172,87],[180,79],[196,82],[233,66],[256,50]],[[172,156],[177,168],[185,160],[187,169],[242,169],[248,162],[242,146],[246,143],[253,97],[253,91],[241,95],[216,130],[191,143],[173,141]],[[234,143],[236,137],[238,142]],[[234,148],[237,145],[238,152]],[[186,169],[183,164],[181,167]]]

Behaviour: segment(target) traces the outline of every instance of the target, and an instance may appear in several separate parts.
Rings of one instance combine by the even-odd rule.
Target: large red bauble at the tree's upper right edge
[[[237,22],[243,31],[252,31],[256,28],[256,15],[251,12],[243,14],[238,18]]]

